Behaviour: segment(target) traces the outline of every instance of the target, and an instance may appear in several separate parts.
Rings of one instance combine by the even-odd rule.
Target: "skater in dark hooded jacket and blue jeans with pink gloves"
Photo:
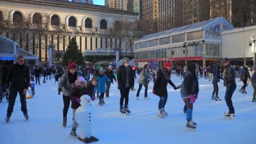
[[[195,130],[196,123],[192,120],[193,113],[193,103],[198,97],[199,84],[196,76],[197,71],[199,70],[199,65],[196,63],[190,63],[188,65],[188,71],[184,77],[184,81],[181,86],[181,97],[185,103],[185,106],[188,107],[187,110],[187,124],[186,128],[188,130]]]

